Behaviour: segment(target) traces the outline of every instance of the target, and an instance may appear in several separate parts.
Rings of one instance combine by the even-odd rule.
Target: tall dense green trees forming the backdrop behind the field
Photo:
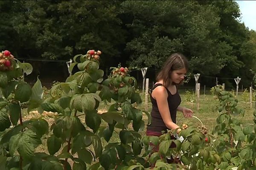
[[[16,57],[68,60],[100,48],[107,69],[158,70],[178,51],[191,72],[240,76],[244,86],[255,68],[256,33],[235,1],[1,1],[0,11],[0,48]]]

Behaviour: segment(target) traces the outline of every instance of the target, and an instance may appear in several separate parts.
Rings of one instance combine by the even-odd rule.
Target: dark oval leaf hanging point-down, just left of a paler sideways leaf
[[[97,113],[97,111],[87,111],[85,114],[85,122],[86,125],[93,129],[93,132],[99,129],[99,125],[101,124],[101,116]]]

